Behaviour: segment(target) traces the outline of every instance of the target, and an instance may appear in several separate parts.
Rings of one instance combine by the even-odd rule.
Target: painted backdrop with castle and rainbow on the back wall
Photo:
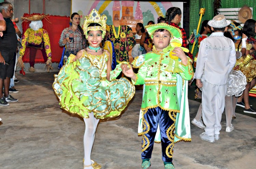
[[[100,14],[108,17],[108,25],[129,25],[133,32],[138,22],[145,26],[148,21],[157,23],[159,16],[165,17],[170,7],[179,7],[183,13],[183,2],[153,2],[153,1],[110,1],[110,0],[72,0],[71,11],[79,13],[84,18],[95,8]],[[84,19],[81,19],[83,25]],[[181,27],[183,19],[181,19]]]

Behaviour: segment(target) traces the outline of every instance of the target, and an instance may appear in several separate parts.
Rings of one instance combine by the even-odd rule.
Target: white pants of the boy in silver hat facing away
[[[227,85],[214,86],[208,82],[203,83],[202,90],[202,116],[205,124],[205,134],[213,136],[221,130],[221,117],[225,108],[225,95]]]

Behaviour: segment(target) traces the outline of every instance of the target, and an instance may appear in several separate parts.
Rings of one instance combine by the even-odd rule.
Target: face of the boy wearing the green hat
[[[156,50],[163,50],[166,48],[171,40],[171,35],[168,31],[155,32],[153,35],[153,43],[156,47]]]

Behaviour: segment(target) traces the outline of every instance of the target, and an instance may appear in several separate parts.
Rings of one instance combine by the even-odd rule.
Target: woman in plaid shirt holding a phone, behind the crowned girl
[[[70,27],[67,27],[62,31],[59,39],[59,45],[66,45],[66,51],[60,59],[58,69],[66,63],[70,54],[76,55],[78,51],[86,48],[84,31],[80,26],[80,15],[76,12],[70,17]]]

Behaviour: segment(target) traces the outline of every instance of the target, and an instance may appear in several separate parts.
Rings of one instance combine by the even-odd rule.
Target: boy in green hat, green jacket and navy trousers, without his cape
[[[142,99],[142,165],[143,169],[151,166],[150,158],[153,150],[154,139],[159,125],[162,145],[162,160],[165,169],[174,168],[172,154],[174,147],[176,113],[180,113],[180,103],[177,93],[177,73],[166,71],[170,63],[169,53],[179,58],[179,75],[185,80],[190,80],[194,73],[190,59],[183,50],[175,47],[173,51],[167,51],[173,37],[182,37],[182,33],[174,26],[158,23],[145,26],[153,39],[153,51],[138,56],[133,61],[133,67],[139,68],[137,74],[132,69],[125,67],[123,73],[132,79],[133,84],[145,84]],[[164,52],[166,53],[164,53]],[[175,62],[172,62],[172,69]],[[188,122],[189,123],[189,122]],[[184,133],[183,133],[184,134]],[[180,140],[190,140],[180,139]]]

